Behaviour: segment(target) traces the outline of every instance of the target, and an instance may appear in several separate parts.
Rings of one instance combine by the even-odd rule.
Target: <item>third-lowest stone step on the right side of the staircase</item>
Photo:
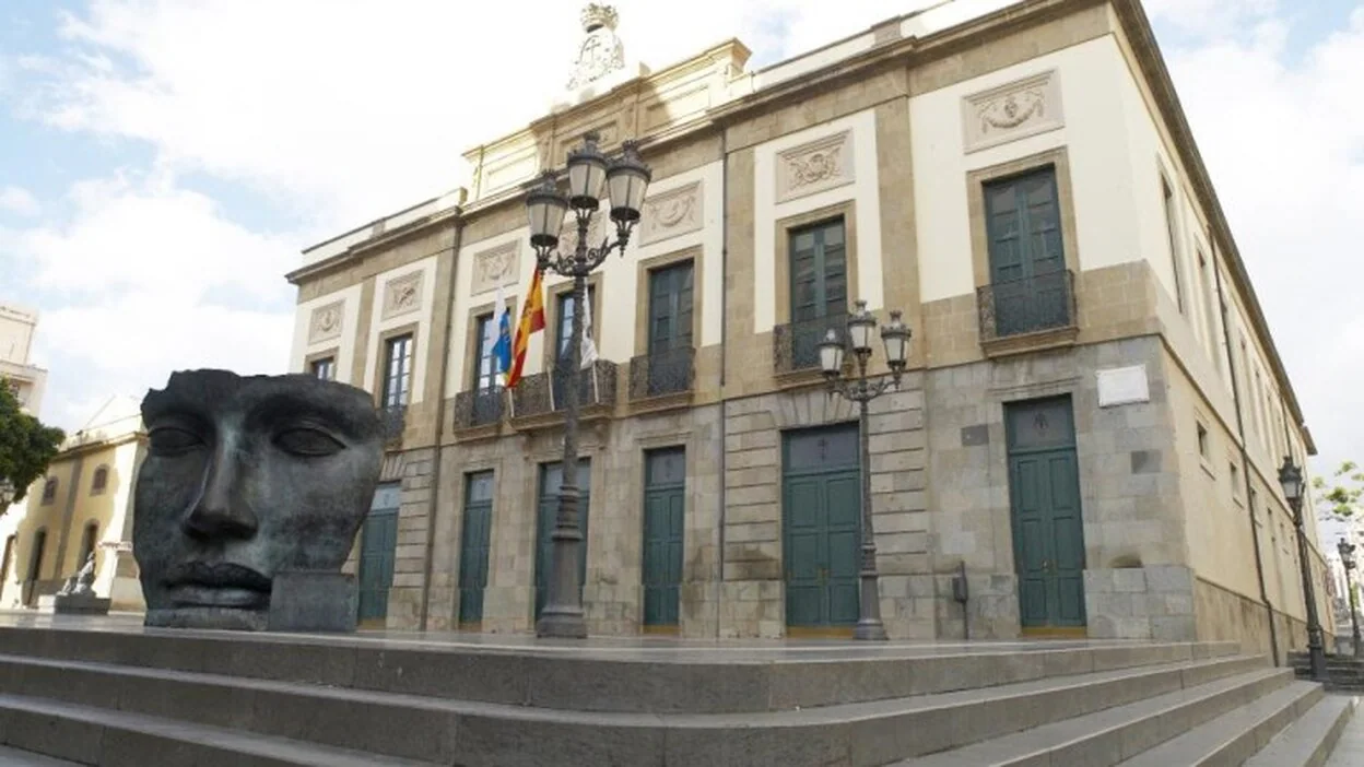
[[[1112,767],[1293,681],[1285,669],[1236,677],[900,763],[900,767]]]

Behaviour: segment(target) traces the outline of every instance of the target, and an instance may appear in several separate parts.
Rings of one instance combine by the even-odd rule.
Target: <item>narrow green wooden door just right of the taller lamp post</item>
[[[686,450],[644,454],[644,625],[677,626],[682,585]]]

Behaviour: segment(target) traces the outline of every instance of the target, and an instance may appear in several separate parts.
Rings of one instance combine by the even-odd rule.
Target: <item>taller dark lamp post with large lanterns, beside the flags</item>
[[[644,192],[652,173],[640,161],[638,145],[622,142],[622,154],[614,160],[597,149],[599,135],[584,136],[582,146],[569,153],[569,194],[559,191],[555,171],[546,171],[540,184],[525,198],[531,221],[531,246],[542,270],[573,278],[573,332],[569,340],[569,370],[555,371],[566,378],[563,392],[563,480],[559,484],[559,509],[551,534],[552,555],[550,594],[540,618],[535,624],[537,636],[582,639],[588,635],[582,620],[582,592],[578,590],[578,568],[582,561],[582,528],[578,524],[578,368],[582,367],[582,313],[585,307],[587,277],[612,250],[625,255],[630,229],[640,221]],[[615,242],[603,239],[599,247],[588,247],[588,227],[597,213],[602,192],[610,195],[610,217],[615,222]],[[573,252],[558,252],[563,218],[573,212],[578,228]]]

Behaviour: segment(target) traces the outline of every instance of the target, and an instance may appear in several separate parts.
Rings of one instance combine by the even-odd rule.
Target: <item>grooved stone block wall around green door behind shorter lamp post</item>
[[[720,636],[786,633],[782,431],[855,422],[855,418],[851,404],[818,388],[727,403]],[[906,375],[899,392],[874,400],[869,418],[881,617],[892,637],[932,637],[922,374]]]

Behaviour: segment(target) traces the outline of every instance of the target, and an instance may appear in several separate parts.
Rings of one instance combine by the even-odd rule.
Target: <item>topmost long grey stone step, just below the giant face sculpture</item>
[[[569,648],[574,650],[574,648]],[[563,711],[724,714],[889,700],[1225,658],[1236,643],[557,652],[232,632],[0,626],[0,654]]]

